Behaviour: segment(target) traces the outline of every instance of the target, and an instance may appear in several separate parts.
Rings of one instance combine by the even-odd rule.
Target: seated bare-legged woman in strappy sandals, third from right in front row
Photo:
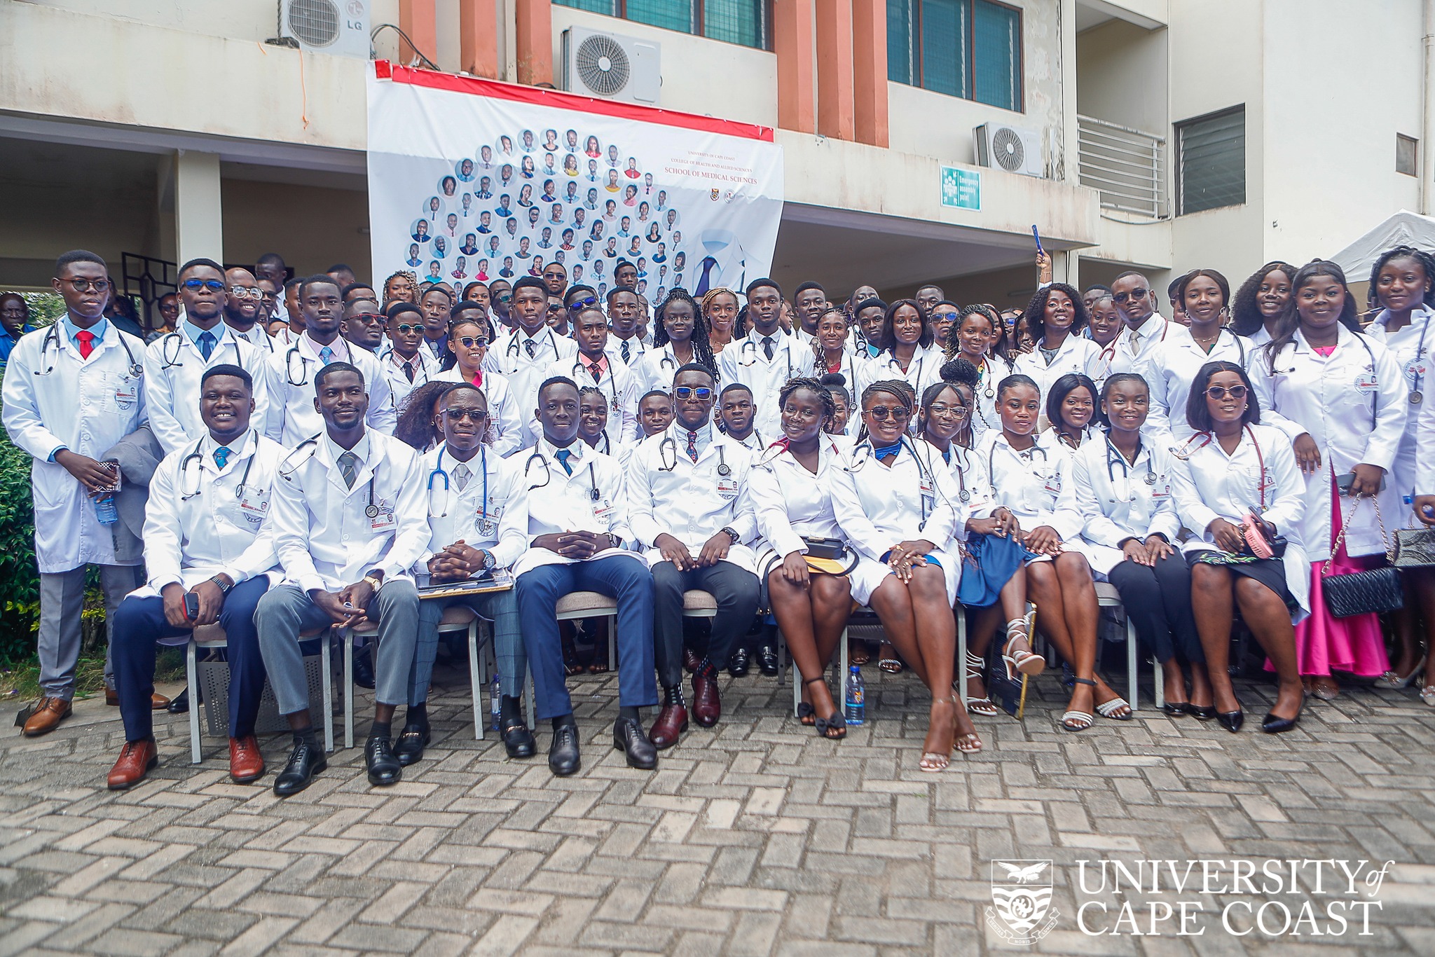
[[[1131,720],[1131,704],[1096,674],[1096,588],[1079,538],[1081,518],[1056,508],[1065,459],[1038,445],[1033,432],[1040,415],[1036,383],[1007,376],[997,386],[1002,429],[977,443],[977,455],[992,476],[992,495],[1016,517],[1017,535],[1036,557],[1026,567],[1027,597],[1036,624],[1072,667],[1072,689],[1062,727],[1086,730],[1092,716]]]

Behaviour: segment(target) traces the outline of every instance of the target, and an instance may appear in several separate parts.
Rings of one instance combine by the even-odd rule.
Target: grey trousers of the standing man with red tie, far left
[[[75,666],[80,657],[80,613],[85,610],[85,571],[40,572],[40,693],[46,697],[75,697]],[[138,565],[100,565],[99,583],[105,593],[106,637],[113,638],[115,611],[135,590]],[[115,669],[105,643],[105,687],[115,687]]]

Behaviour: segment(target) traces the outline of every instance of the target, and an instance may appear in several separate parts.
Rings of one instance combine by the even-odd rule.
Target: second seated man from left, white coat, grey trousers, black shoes
[[[314,406],[324,432],[280,463],[270,509],[284,584],[254,613],[260,650],[294,750],[274,779],[287,798],[327,766],[309,715],[298,636],[331,624],[379,627],[375,719],[364,743],[369,782],[402,776],[393,755],[395,706],[408,700],[419,593],[409,570],[429,545],[419,456],[397,439],[364,428],[364,377],[349,363],[316,370]]]

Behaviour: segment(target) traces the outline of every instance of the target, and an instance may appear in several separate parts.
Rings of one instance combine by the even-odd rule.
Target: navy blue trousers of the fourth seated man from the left
[[[518,620],[524,630],[528,666],[534,673],[537,717],[573,713],[558,641],[558,598],[571,591],[597,591],[617,598],[618,704],[657,704],[653,682],[653,574],[626,555],[568,565],[540,565],[518,577]]]

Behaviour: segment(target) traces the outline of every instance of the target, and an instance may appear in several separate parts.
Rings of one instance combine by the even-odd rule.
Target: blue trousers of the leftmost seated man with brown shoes
[[[230,736],[254,733],[254,716],[264,694],[264,659],[254,631],[254,608],[268,588],[268,578],[241,581],[230,590],[220,608],[220,626],[228,641]],[[110,657],[115,661],[115,692],[125,740],[144,740],[154,733],[149,696],[155,693],[155,641],[188,634],[165,620],[165,600],[125,598],[115,613]],[[199,707],[198,689],[189,689],[189,707]]]

